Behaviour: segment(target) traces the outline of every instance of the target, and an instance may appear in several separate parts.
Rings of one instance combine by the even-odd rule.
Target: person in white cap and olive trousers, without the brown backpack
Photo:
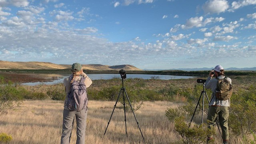
[[[214,74],[212,73],[214,72]],[[215,76],[215,78],[212,78]],[[222,139],[223,144],[228,144],[229,134],[228,134],[228,117],[229,117],[229,107],[230,107],[230,99],[228,100],[219,100],[216,98],[216,88],[218,79],[225,78],[224,75],[224,68],[220,65],[215,66],[215,68],[210,71],[208,78],[205,82],[205,88],[212,90],[212,98],[209,103],[209,110],[208,110],[208,128],[213,128],[216,124],[217,117],[220,121],[220,126],[222,129]],[[232,82],[230,78],[227,80]],[[213,136],[208,136],[207,142],[211,140]]]

